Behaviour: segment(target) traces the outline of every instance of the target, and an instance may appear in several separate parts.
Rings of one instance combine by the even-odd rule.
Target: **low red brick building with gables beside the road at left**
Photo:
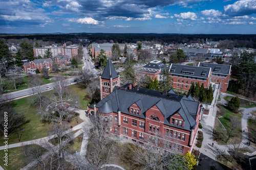
[[[42,68],[50,70],[52,68],[53,61],[50,58],[36,59],[28,63],[23,64],[24,71],[30,74],[35,74],[35,70],[38,68],[40,71]]]

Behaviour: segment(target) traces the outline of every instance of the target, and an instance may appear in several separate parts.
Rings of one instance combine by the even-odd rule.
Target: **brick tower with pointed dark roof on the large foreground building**
[[[104,71],[100,77],[100,100],[109,95],[115,86],[120,86],[120,78],[112,62],[108,59]]]

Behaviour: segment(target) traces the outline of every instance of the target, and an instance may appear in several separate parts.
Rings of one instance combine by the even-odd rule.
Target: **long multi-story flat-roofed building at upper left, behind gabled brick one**
[[[57,47],[40,47],[40,48],[33,48],[34,56],[44,57],[48,49],[51,50],[52,57],[56,57],[57,55],[67,55],[69,58],[78,55],[78,47],[77,45],[69,45],[67,46],[66,43],[63,46]]]

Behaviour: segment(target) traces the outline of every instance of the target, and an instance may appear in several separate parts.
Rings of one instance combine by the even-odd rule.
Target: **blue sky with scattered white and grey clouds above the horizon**
[[[256,34],[256,0],[0,0],[0,33]]]

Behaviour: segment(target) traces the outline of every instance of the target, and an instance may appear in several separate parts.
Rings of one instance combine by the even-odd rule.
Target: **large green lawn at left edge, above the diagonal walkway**
[[[23,130],[18,131],[18,135],[22,134],[20,142],[38,139],[41,137],[46,137],[47,132],[50,129],[49,124],[44,124],[40,122],[40,116],[36,114],[36,108],[30,106],[28,102],[28,98],[22,98],[13,101],[14,108],[18,110],[18,112],[23,112],[26,115],[27,119],[30,119],[30,123],[26,124],[23,127]],[[0,145],[4,145],[3,136],[0,139]],[[8,143],[17,143],[18,136],[16,132],[12,132],[9,134]]]

